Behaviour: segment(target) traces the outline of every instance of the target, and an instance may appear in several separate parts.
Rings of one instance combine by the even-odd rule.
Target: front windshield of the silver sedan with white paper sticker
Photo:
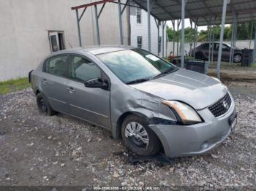
[[[177,68],[173,64],[141,49],[120,50],[97,55],[122,82],[145,82]]]

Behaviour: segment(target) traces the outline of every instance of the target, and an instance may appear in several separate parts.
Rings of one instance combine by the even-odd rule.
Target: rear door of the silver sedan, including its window
[[[47,96],[50,106],[58,112],[69,113],[67,105],[67,78],[69,55],[56,55],[44,63],[42,90]]]

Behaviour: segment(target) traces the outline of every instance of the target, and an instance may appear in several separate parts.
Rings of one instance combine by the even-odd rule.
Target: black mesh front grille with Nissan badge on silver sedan
[[[219,117],[222,114],[225,114],[228,109],[230,109],[231,105],[231,98],[230,95],[227,93],[221,100],[217,101],[215,104],[208,107],[212,114],[215,117]]]

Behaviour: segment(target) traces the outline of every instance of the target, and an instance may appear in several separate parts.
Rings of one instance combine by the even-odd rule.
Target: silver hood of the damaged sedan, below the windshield
[[[218,79],[185,69],[130,86],[165,100],[183,101],[194,109],[206,108],[227,93]]]

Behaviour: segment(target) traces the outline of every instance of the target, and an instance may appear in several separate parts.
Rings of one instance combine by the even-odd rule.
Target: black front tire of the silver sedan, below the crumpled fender
[[[136,138],[135,135],[126,136],[129,134],[130,132],[129,127],[131,128],[132,124],[142,125],[142,128],[139,131],[142,133],[144,133],[144,130],[146,131],[146,134],[148,136],[148,144],[141,141],[140,138],[138,137]],[[139,126],[137,125],[137,127]],[[154,155],[157,152],[159,152],[159,150],[162,147],[157,135],[153,132],[153,130],[148,128],[148,122],[146,121],[146,119],[144,117],[138,117],[138,115],[135,115],[135,114],[131,114],[124,119],[124,122],[121,125],[121,136],[124,141],[124,145],[132,152],[135,152],[135,154],[137,155],[144,155],[144,156]],[[143,136],[143,138],[146,139],[146,136]]]

